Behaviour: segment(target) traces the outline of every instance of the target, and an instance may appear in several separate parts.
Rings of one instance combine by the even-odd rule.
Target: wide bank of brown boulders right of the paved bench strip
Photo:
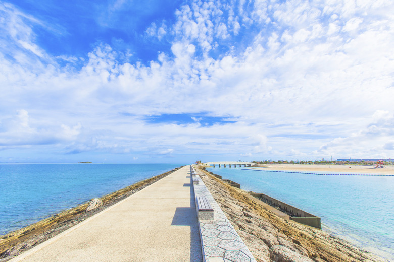
[[[381,262],[384,259],[328,233],[275,216],[248,197],[200,169],[202,179],[239,236],[259,262]]]

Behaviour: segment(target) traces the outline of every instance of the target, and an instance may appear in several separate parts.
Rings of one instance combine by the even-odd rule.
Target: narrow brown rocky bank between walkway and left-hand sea
[[[0,262],[8,261],[34,246],[62,233],[63,231],[66,231],[94,214],[116,204],[117,202],[168,176],[180,168],[181,167],[177,167],[171,171],[136,182],[120,190],[104,195],[100,198],[103,205],[93,210],[85,211],[90,202],[88,201],[77,207],[67,209],[19,230],[9,232],[5,235],[0,235]]]

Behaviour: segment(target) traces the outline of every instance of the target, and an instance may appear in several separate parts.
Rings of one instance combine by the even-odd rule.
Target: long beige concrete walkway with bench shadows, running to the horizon
[[[202,252],[185,166],[11,261],[198,261]]]

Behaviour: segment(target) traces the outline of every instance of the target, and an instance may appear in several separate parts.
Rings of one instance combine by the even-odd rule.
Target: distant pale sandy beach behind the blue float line
[[[252,167],[254,168],[254,167]],[[339,172],[339,173],[364,173],[364,174],[394,174],[394,166],[385,166],[384,168],[374,168],[374,166],[364,165],[299,165],[299,164],[281,164],[266,165],[257,167],[261,170],[286,170],[286,171],[321,171],[321,172]]]

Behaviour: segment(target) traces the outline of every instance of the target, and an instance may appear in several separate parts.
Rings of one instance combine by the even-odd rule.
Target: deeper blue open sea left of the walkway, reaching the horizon
[[[0,235],[181,164],[0,164]]]

